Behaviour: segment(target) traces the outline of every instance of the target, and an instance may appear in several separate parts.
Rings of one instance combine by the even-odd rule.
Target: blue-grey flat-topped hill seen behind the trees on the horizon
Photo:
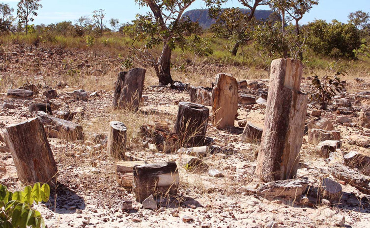
[[[225,9],[223,9],[225,10]],[[240,8],[243,13],[251,12],[250,9]],[[274,11],[272,10],[256,10],[255,17],[257,20],[266,20]],[[198,22],[203,28],[209,28],[216,20],[208,17],[208,9],[193,9],[186,11],[183,17],[189,17],[192,22]]]

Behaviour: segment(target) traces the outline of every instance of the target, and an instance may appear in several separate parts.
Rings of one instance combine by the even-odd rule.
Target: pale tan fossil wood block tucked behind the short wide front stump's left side
[[[134,166],[145,165],[144,161],[118,161],[115,164],[115,174],[117,182],[120,186],[125,188],[132,188],[134,181]]]

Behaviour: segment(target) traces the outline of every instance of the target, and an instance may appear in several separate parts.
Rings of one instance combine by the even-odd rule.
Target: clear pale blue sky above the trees
[[[16,11],[18,0],[0,0],[9,3]],[[147,8],[139,8],[135,0],[41,0],[42,9],[38,10],[34,24],[50,24],[61,21],[77,20],[81,16],[92,15],[97,9],[106,10],[107,21],[117,18],[121,23],[135,19],[137,13],[145,13]],[[190,9],[204,8],[204,3],[197,0]],[[230,0],[225,7],[242,7],[237,0]],[[260,7],[268,9],[268,6]],[[320,0],[311,11],[304,16],[301,23],[305,24],[315,19],[331,21],[337,19],[341,22],[347,21],[351,12],[362,10],[370,12],[370,0]]]

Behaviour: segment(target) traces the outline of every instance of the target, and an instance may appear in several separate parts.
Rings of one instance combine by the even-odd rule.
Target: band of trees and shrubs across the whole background
[[[107,21],[105,10],[99,9],[75,23],[64,21],[36,26],[31,23],[42,7],[40,0],[20,0],[17,16],[9,4],[0,3],[0,32],[85,37],[87,45],[92,45],[94,38],[105,32],[121,33],[133,40],[126,63],[136,61],[153,67],[163,85],[173,83],[171,53],[174,49],[193,52],[195,62],[197,57],[213,53],[214,38],[227,41],[225,48],[230,56],[236,56],[244,45],[253,45],[262,58],[304,60],[307,51],[334,58],[370,57],[370,15],[363,11],[349,14],[347,23],[315,20],[301,25],[304,15],[318,0],[238,0],[247,12],[239,8],[222,9],[228,0],[203,0],[209,17],[215,22],[205,30],[198,22],[183,16],[194,1],[135,0],[150,12],[137,15],[127,24],[120,24],[114,18]],[[265,20],[256,20],[256,10],[262,5],[270,6],[274,13]]]

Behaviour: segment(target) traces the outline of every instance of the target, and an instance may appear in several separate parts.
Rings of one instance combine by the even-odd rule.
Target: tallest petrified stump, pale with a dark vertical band
[[[265,126],[256,175],[270,182],[296,177],[302,146],[307,95],[299,91],[302,63],[276,59],[271,63]]]

